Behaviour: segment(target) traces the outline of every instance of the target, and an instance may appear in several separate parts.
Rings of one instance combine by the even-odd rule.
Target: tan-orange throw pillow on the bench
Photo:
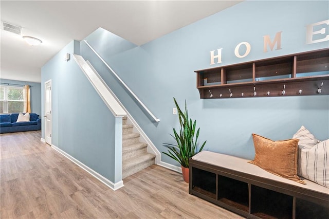
[[[249,163],[278,176],[305,184],[297,176],[298,139],[273,141],[252,134],[255,157]]]

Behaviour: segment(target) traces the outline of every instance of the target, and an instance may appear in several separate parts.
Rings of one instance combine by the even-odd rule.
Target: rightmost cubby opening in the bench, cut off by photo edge
[[[304,199],[296,198],[296,219],[329,217],[329,206],[322,206]]]

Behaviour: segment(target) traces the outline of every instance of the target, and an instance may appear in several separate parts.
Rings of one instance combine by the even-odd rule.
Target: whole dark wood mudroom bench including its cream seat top
[[[329,217],[328,188],[282,178],[248,161],[199,152],[189,162],[189,193],[248,218]]]

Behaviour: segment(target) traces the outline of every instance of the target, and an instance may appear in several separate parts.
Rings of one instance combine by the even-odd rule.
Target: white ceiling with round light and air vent
[[[142,45],[242,1],[0,1],[0,79],[41,82],[41,67],[72,40],[99,27]],[[23,35],[43,43],[30,46]]]

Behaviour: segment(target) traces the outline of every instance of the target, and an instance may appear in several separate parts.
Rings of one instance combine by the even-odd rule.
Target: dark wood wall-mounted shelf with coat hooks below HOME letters
[[[200,98],[329,95],[329,49],[196,70]]]

